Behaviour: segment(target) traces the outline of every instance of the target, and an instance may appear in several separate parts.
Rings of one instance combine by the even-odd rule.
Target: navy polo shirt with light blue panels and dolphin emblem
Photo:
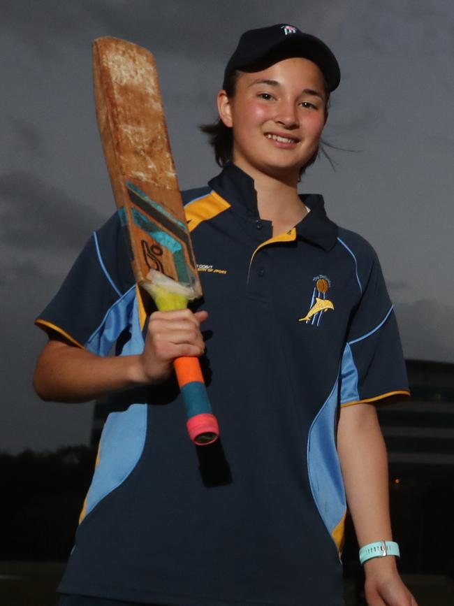
[[[323,199],[272,236],[230,165],[184,193],[206,309],[201,360],[221,440],[186,435],[175,378],[112,394],[59,591],[183,606],[340,606],[339,407],[408,394],[379,261]],[[146,324],[117,215],[36,321],[100,355]]]

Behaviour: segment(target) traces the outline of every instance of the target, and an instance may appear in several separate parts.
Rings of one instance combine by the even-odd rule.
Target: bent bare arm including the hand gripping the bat
[[[97,356],[60,337],[50,338],[38,358],[34,388],[45,401],[87,402],[112,391],[166,380],[180,356],[205,350],[200,323],[207,312],[154,312],[145,347],[134,356]]]

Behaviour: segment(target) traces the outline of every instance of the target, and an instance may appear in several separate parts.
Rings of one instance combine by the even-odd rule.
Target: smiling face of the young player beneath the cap
[[[326,120],[323,75],[309,59],[284,59],[263,71],[241,73],[235,94],[218,94],[219,115],[233,128],[233,161],[258,173],[298,181],[316,153]]]

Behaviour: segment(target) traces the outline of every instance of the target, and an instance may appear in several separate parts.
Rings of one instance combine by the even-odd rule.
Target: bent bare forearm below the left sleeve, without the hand
[[[101,357],[50,342],[38,359],[34,388],[45,401],[78,403],[145,383],[140,356]]]

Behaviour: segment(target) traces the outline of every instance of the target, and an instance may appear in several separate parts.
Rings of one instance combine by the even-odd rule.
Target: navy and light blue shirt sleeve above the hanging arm
[[[409,396],[393,305],[379,259],[369,247],[358,258],[361,297],[351,317],[341,368],[341,405]]]

